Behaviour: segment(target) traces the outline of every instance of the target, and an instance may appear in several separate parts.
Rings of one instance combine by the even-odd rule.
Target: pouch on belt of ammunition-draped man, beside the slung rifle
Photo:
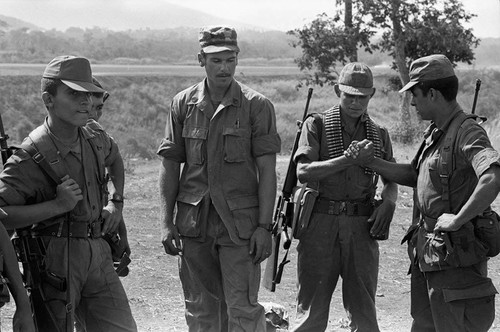
[[[307,187],[306,184],[296,188],[293,195],[292,234],[294,238],[300,239],[309,226],[309,220],[318,195],[317,190]]]

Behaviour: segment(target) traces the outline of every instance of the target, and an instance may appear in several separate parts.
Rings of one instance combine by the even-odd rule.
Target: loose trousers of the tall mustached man
[[[264,332],[258,303],[261,269],[252,263],[249,241],[236,245],[213,206],[203,241],[183,238],[179,274],[190,332]]]

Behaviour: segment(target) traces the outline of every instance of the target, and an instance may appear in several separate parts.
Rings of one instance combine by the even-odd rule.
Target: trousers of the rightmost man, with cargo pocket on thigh
[[[487,263],[441,271],[411,268],[412,332],[486,332],[495,319]]]

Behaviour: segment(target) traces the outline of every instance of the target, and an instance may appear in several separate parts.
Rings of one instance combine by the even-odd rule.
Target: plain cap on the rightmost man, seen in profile
[[[424,81],[455,76],[451,61],[442,54],[428,55],[410,65],[410,81],[399,92],[405,92]]]

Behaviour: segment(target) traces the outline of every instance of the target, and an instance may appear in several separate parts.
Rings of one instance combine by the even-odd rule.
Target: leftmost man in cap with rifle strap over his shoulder
[[[44,331],[52,321],[65,331],[76,318],[86,331],[137,331],[110,247],[102,238],[116,231],[122,216],[121,156],[104,131],[85,126],[91,93],[104,90],[93,84],[87,59],[58,56],[45,68],[41,92],[48,116],[23,146],[45,158],[54,179],[25,149],[13,154],[0,174],[0,206],[8,214],[4,225],[41,238],[42,272],[66,284],[39,276],[50,315],[42,317],[38,312],[42,308],[34,308],[38,329]],[[116,190],[106,206],[105,168]]]

